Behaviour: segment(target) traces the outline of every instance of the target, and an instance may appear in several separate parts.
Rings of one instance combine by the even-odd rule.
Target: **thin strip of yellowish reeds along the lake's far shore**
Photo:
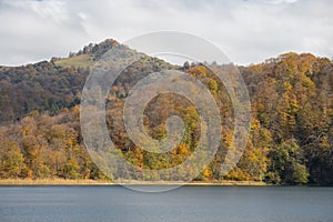
[[[67,180],[67,179],[0,179],[0,186],[89,186],[89,185],[184,185],[184,186],[266,186],[266,184],[260,181],[192,181],[189,183],[182,183],[178,181],[125,181],[125,182],[112,182],[103,180]]]

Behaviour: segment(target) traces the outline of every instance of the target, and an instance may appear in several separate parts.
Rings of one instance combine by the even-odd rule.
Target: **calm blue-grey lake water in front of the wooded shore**
[[[1,222],[333,222],[333,188],[3,186]]]

